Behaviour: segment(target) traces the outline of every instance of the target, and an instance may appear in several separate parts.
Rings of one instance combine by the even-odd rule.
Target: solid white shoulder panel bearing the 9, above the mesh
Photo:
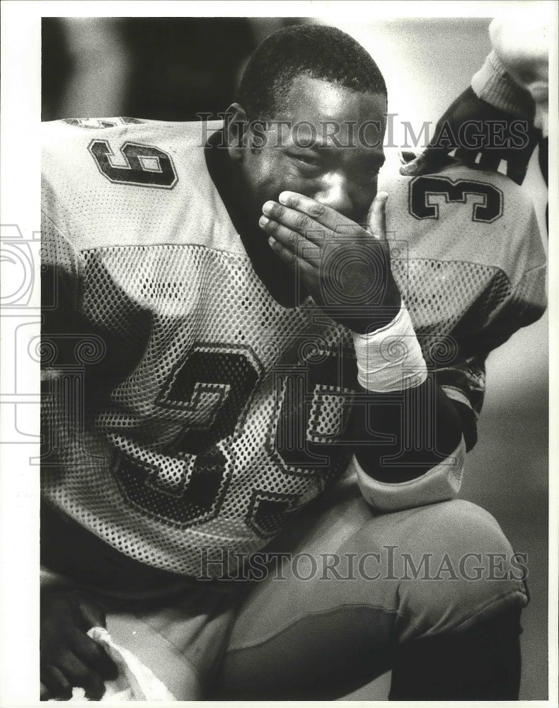
[[[220,126],[132,118],[45,123],[43,212],[78,249],[226,248],[231,221],[204,156]]]

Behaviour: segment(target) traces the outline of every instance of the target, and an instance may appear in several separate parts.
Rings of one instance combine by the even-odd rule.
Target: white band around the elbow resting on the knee
[[[459,493],[466,459],[466,443],[462,438],[456,450],[428,472],[407,482],[389,483],[366,474],[357,459],[357,484],[363,498],[379,511],[425,506],[452,499]]]

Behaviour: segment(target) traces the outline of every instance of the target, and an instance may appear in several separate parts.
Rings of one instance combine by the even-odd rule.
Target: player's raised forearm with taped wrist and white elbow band
[[[353,339],[362,387],[353,440],[364,498],[380,510],[452,498],[466,454],[462,419],[428,372],[407,309]]]

